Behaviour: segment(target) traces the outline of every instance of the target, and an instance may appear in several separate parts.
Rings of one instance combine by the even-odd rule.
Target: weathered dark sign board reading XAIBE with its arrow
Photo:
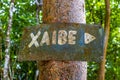
[[[99,61],[103,29],[98,25],[53,23],[24,29],[18,59]]]

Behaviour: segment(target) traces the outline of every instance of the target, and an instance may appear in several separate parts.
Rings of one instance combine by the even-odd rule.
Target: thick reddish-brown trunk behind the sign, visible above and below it
[[[84,0],[43,0],[43,23],[86,23]],[[74,53],[73,53],[74,54]],[[86,80],[87,62],[40,61],[39,80]]]

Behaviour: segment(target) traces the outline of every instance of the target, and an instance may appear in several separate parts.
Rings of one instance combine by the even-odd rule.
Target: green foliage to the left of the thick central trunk
[[[2,27],[4,43],[9,17],[9,1],[0,1],[0,27]],[[35,62],[18,62],[17,54],[19,52],[20,37],[24,27],[36,25],[35,18],[36,6],[34,0],[17,0],[15,2],[13,24],[11,36],[11,74],[15,80],[33,80],[36,71]],[[5,56],[5,44],[2,48],[2,56]],[[32,65],[32,66],[31,66]],[[3,70],[4,58],[0,60],[0,67]],[[2,71],[0,72],[2,73]],[[2,76],[0,76],[1,78]]]

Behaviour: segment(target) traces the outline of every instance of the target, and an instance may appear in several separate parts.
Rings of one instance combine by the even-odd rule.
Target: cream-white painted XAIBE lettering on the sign
[[[57,35],[58,34],[58,35]],[[43,46],[43,44],[46,45],[64,45],[64,44],[76,44],[76,34],[77,31],[75,30],[59,30],[52,32],[52,38],[50,38],[48,31],[45,31],[42,35],[42,39],[40,43],[37,41],[39,36],[41,36],[41,31],[38,31],[36,35],[33,33],[30,34],[30,37],[32,41],[29,43],[28,47],[30,48],[32,45],[35,45],[35,47]]]

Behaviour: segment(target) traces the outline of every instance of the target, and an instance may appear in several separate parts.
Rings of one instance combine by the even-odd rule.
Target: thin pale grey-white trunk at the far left
[[[9,20],[6,36],[6,50],[5,50],[5,64],[4,64],[4,73],[3,77],[5,80],[9,80],[8,71],[10,66],[10,33],[12,27],[12,16],[13,16],[14,0],[11,0],[10,9],[9,9]]]

